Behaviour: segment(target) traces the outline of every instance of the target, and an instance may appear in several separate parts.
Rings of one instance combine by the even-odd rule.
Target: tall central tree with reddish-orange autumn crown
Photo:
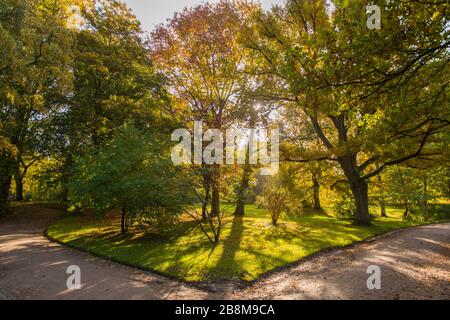
[[[205,131],[225,130],[245,115],[252,76],[244,72],[248,56],[238,40],[254,10],[244,1],[206,3],[177,13],[152,32],[151,57],[174,93],[174,112],[186,125],[202,121]],[[221,164],[196,165],[207,184],[204,198],[211,200],[211,214],[219,215]]]

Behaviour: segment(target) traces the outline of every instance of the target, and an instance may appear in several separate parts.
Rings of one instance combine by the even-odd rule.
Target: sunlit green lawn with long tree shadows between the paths
[[[123,239],[118,235],[118,217],[68,216],[50,226],[47,235],[71,247],[184,281],[252,281],[325,248],[418,224],[402,221],[399,210],[388,210],[388,215],[377,218],[371,227],[357,227],[350,220],[307,212],[284,217],[273,227],[265,210],[248,206],[246,217],[228,218],[222,243],[216,247],[188,220],[180,223],[171,238],[138,232]]]

